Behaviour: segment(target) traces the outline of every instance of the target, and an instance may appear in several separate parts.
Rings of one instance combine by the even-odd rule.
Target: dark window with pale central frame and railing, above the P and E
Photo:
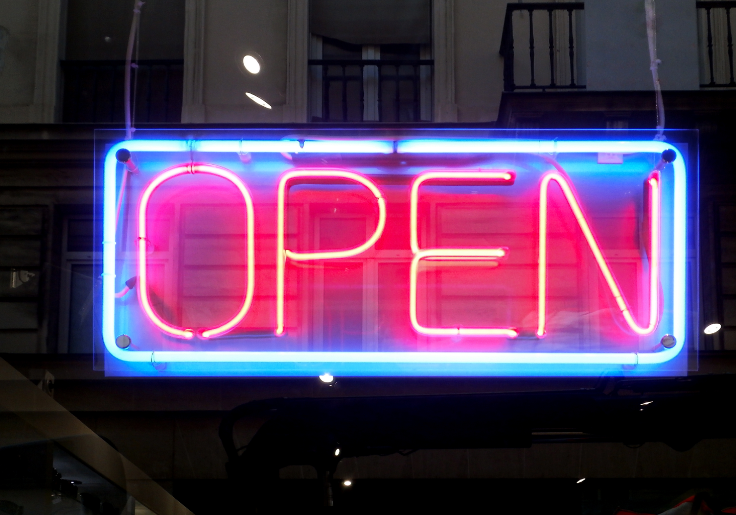
[[[431,2],[310,3],[312,121],[432,119]]]

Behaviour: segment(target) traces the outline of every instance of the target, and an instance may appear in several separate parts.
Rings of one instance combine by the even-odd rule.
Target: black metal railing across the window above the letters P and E
[[[431,87],[434,60],[309,60],[309,65],[322,72],[322,116],[313,116],[314,121],[366,121],[366,85],[370,80],[376,87],[376,121],[422,121],[421,90],[423,85]],[[375,79],[367,78],[367,66],[377,68]],[[427,100],[431,102],[431,93]]]

